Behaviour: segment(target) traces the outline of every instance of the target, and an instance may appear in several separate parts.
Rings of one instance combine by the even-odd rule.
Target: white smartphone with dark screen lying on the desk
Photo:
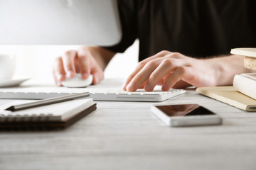
[[[198,104],[153,105],[151,111],[171,127],[222,124],[220,115]]]

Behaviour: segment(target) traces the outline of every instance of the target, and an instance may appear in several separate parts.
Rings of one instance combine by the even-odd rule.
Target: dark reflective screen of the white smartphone
[[[215,115],[212,111],[199,106],[198,104],[181,104],[181,105],[167,105],[156,106],[169,117],[174,116],[191,116],[191,115]]]

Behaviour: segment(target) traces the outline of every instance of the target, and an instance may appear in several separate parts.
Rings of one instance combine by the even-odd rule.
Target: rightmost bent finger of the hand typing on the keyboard
[[[166,79],[164,86],[162,86],[162,91],[169,91],[177,81],[180,80],[191,80],[195,79],[194,70],[191,67],[178,67],[169,77]],[[189,82],[188,82],[189,83]]]

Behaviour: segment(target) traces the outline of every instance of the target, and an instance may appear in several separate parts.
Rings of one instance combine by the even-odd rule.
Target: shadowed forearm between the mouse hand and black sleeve
[[[96,62],[100,65],[100,67],[104,70],[107,67],[107,64],[110,62],[112,57],[116,54],[116,52],[112,52],[103,47],[88,47],[92,56],[95,58]]]

